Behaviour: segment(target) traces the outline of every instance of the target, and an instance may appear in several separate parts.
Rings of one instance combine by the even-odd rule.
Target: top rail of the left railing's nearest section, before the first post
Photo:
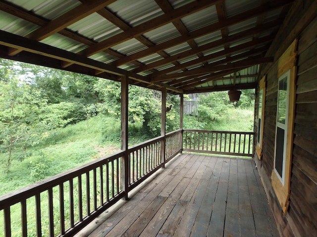
[[[21,189],[4,194],[4,195],[0,196],[0,210],[4,209],[7,206],[13,205],[13,204],[21,201],[21,199],[33,197],[38,193],[46,191],[46,190],[53,188],[53,187],[55,187],[63,182],[66,182],[72,178],[75,178],[79,175],[82,175],[82,174],[86,173],[87,171],[90,171],[90,170],[104,164],[105,161],[110,162],[116,158],[120,158],[123,156],[123,154],[124,154],[123,151],[119,151],[117,153],[111,154],[111,155],[103,157],[103,158],[93,160],[87,164],[81,165],[79,167],[73,168],[73,169],[65,171],[63,173],[56,174],[50,178],[41,180],[39,182],[28,185],[28,186],[23,187]]]

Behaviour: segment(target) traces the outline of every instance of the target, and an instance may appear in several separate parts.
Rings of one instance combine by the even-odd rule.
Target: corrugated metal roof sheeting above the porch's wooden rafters
[[[0,30],[18,36],[26,36],[37,29],[44,27],[49,20],[56,19],[67,11],[76,8],[80,4],[85,4],[87,1],[83,1],[83,3],[80,0],[7,0],[6,2],[16,4],[18,7],[24,8],[25,12],[23,13],[24,15],[18,15],[18,11],[15,11],[16,13],[14,13],[14,11],[8,11],[11,14],[0,11]],[[187,4],[195,4],[198,6],[202,4],[201,1],[195,0],[168,0],[168,2],[174,9],[187,7]],[[235,36],[240,32],[256,28],[259,25],[261,26],[263,23],[269,23],[279,19],[280,17],[283,17],[281,16],[281,13],[284,13],[284,11],[281,11],[281,7],[283,6],[281,3],[279,3],[281,5],[280,7],[277,7],[276,9],[272,8],[271,11],[268,11],[266,6],[263,7],[263,9],[261,8],[263,0],[224,0],[223,2],[217,2],[217,4],[219,4],[218,7],[224,9],[225,18],[230,18],[237,14],[244,13],[245,11],[255,7],[258,7],[258,15],[253,16],[252,18],[245,15],[245,20],[241,19],[241,21],[236,24],[231,24],[230,22],[229,24],[228,21],[224,19],[224,23],[219,24],[218,29],[214,29],[214,26],[217,25],[214,23],[217,23],[219,18],[221,19],[220,15],[218,16],[219,13],[217,13],[215,5],[208,7],[199,6],[200,10],[198,11],[196,11],[195,7],[188,7],[184,10],[183,17],[177,18],[174,24],[169,21],[169,18],[173,17],[173,15],[170,15],[166,17],[165,23],[158,22],[158,25],[155,25],[157,21],[155,18],[164,14],[164,11],[159,7],[159,5],[164,5],[165,3],[160,1],[157,2],[156,0],[116,0],[106,6],[106,10],[112,13],[111,18],[106,19],[105,16],[102,16],[98,12],[92,13],[69,25],[66,28],[66,31],[63,30],[59,33],[52,32],[52,35],[46,37],[44,40],[41,40],[41,42],[69,52],[79,53],[83,56],[85,56],[85,51],[83,51],[84,49],[87,51],[87,49],[91,49],[90,45],[97,43],[97,51],[87,54],[87,56],[90,55],[88,57],[93,60],[111,65],[121,65],[118,68],[127,71],[137,69],[143,64],[142,69],[144,69],[144,71],[139,72],[141,71],[141,68],[138,71],[138,74],[143,76],[154,75],[154,77],[163,77],[178,73],[179,75],[177,76],[181,77],[181,73],[183,72],[181,68],[183,66],[182,64],[186,64],[183,68],[190,71],[201,66],[207,66],[206,61],[209,64],[219,60],[224,60],[224,62],[230,63],[241,61],[243,59],[247,60],[250,56],[254,57],[254,55],[264,55],[263,50],[258,50],[256,53],[250,55],[248,55],[248,52],[250,49],[258,49],[259,47],[266,45],[270,42],[270,39],[257,45],[242,48],[233,53],[226,53],[223,55],[219,52],[224,49],[228,49],[228,45],[229,49],[231,49],[237,45],[250,42],[253,39],[261,40],[263,37],[270,36],[271,33],[277,29],[276,27],[273,26],[271,29],[267,29],[265,31],[263,30],[254,36],[248,36],[244,39],[239,37],[236,40],[228,40],[229,36],[229,38],[232,39],[231,36]],[[222,3],[224,5],[221,5]],[[268,5],[276,4],[278,3],[270,0],[270,4]],[[14,7],[14,5],[12,7]],[[191,12],[193,9],[195,9],[195,12]],[[171,11],[173,11],[173,9],[171,9]],[[261,11],[264,13],[262,14]],[[28,14],[30,16],[28,16]],[[38,18],[38,20],[34,20],[34,18]],[[28,21],[29,19],[32,19],[30,20],[31,22]],[[153,19],[155,19],[155,21],[152,21]],[[186,34],[186,32],[185,34],[182,32],[184,35],[181,35],[181,32],[177,27],[183,28],[183,26],[179,25],[179,20],[184,25],[187,32],[189,32],[188,34]],[[136,27],[145,23],[142,25],[144,31],[134,35],[133,30],[129,30],[127,34],[124,34],[124,29],[126,27],[122,27],[118,23],[118,26],[115,25],[116,21],[122,21],[130,27]],[[200,35],[199,29],[211,25],[212,27],[210,33],[204,32]],[[122,27],[123,30],[120,29],[120,27]],[[204,30],[205,29],[206,28],[204,28]],[[225,31],[223,31],[224,29]],[[141,33],[143,34],[141,35]],[[225,35],[226,33],[228,33],[228,35]],[[120,43],[116,43],[115,40],[111,39],[118,34],[122,34],[122,37],[124,37],[120,40]],[[193,34],[195,34],[196,37],[191,38]],[[139,41],[139,38],[136,38],[140,35],[143,37],[141,41]],[[144,44],[144,40],[148,40],[146,45]],[[195,43],[192,43],[191,40],[193,40],[196,45]],[[213,46],[201,49],[199,51],[200,54],[196,51],[193,53],[193,51],[196,50],[196,46],[201,47],[208,45],[216,40],[218,41],[217,43],[214,43]],[[221,44],[218,43],[220,40],[222,41]],[[86,45],[85,43],[89,45]],[[153,46],[149,46],[152,44]],[[100,45],[101,50],[99,50]],[[104,48],[102,47],[103,45],[105,45]],[[161,45],[164,46],[161,47]],[[167,58],[165,55],[162,57],[160,55],[162,54],[160,51],[163,51]],[[136,53],[138,56],[134,57]],[[230,60],[231,57],[240,53],[244,53],[244,56]],[[215,55],[213,56],[212,54]],[[204,60],[204,58],[200,58],[201,55],[208,57]],[[132,59],[129,58],[130,56]],[[168,56],[173,56],[173,59],[169,60]],[[116,63],[116,61],[120,63]],[[191,63],[191,61],[193,62]],[[151,64],[154,62],[157,63],[152,66]],[[218,62],[218,64],[225,67],[224,62]],[[55,63],[54,65],[58,65],[58,63]],[[175,69],[173,69],[173,67],[175,67]],[[158,71],[155,71],[154,69]],[[258,74],[258,65],[239,72],[240,75],[256,75]],[[89,73],[91,73],[91,71]],[[207,77],[208,76],[205,78]],[[165,78],[166,80],[162,80],[162,83],[166,83],[167,85],[169,84],[169,81],[172,83],[173,80],[177,80],[177,78]],[[193,80],[197,78],[204,79],[203,76],[193,76],[192,78]],[[146,83],[147,81],[151,81],[151,77],[146,77],[141,79],[141,81],[142,80]],[[140,78],[138,81],[140,81]],[[245,79],[241,78],[239,82],[236,81],[236,84],[247,82],[251,83],[255,81],[256,76],[247,77]],[[231,83],[230,79],[215,80],[213,84],[211,82],[200,85],[197,83],[194,84],[196,88],[200,88],[211,85],[226,85],[228,83]]]

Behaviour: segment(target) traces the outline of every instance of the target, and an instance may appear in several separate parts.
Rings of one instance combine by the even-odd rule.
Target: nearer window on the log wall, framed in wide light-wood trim
[[[271,183],[275,197],[285,213],[289,205],[291,164],[293,149],[293,124],[295,110],[295,80],[297,40],[278,59],[278,83],[274,163]]]

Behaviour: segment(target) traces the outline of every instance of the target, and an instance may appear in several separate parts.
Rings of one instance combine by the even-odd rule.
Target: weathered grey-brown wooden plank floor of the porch
[[[254,161],[205,155],[174,158],[97,222],[89,237],[279,236]]]

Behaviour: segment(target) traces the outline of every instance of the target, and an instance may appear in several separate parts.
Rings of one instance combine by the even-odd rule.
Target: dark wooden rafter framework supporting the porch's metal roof
[[[261,57],[264,57],[265,53],[267,53],[269,43],[275,37],[277,27],[281,25],[287,13],[288,7],[285,6],[294,0],[260,0],[257,7],[249,10],[240,10],[239,13],[237,12],[237,14],[229,17],[227,16],[225,7],[225,4],[227,4],[226,0],[191,1],[180,7],[172,6],[168,0],[155,0],[157,3],[156,7],[159,7],[156,9],[161,10],[161,15],[137,26],[132,26],[132,23],[126,20],[127,18],[124,16],[121,17],[120,13],[117,14],[110,10],[119,5],[116,5],[114,8],[111,6],[107,7],[108,4],[116,0],[79,1],[81,2],[80,5],[75,6],[60,16],[56,13],[56,15],[52,17],[53,20],[49,20],[44,18],[44,15],[38,15],[41,13],[35,13],[38,12],[36,10],[24,9],[21,3],[22,0],[21,2],[20,0],[13,1],[14,3],[7,0],[0,0],[1,11],[39,26],[38,29],[31,32],[31,28],[28,24],[21,25],[21,30],[23,32],[29,30],[29,34],[25,37],[13,37],[10,35],[10,39],[13,39],[11,42],[5,39],[7,35],[1,34],[0,44],[2,44],[2,46],[0,45],[0,55],[4,58],[11,59],[20,57],[22,58],[20,61],[27,62],[29,60],[33,63],[46,60],[48,62],[47,64],[45,62],[40,64],[47,66],[53,65],[54,68],[64,68],[67,71],[94,76],[98,75],[102,78],[111,78],[118,81],[120,81],[121,76],[124,75],[129,78],[129,83],[159,90],[166,88],[175,93],[193,91],[200,87],[201,84],[204,84],[204,87],[207,86],[209,90],[211,87],[206,83],[208,81],[228,79],[228,75],[234,71],[270,61],[270,58],[261,59]],[[36,6],[36,4],[34,3],[33,6]],[[218,21],[208,23],[209,25],[190,32],[188,30],[189,28],[187,29],[187,24],[184,24],[186,21],[182,21],[182,18],[202,11],[210,6],[214,6],[210,8],[211,14],[213,14],[213,17],[217,17]],[[271,16],[272,14],[270,12],[275,9],[280,10],[278,15],[274,14],[274,16]],[[110,24],[112,23],[114,26],[120,28],[123,32],[98,42],[94,40],[93,37],[90,37],[89,33],[85,33],[87,35],[84,36],[80,35],[79,32],[67,29],[71,24],[94,12],[105,18]],[[268,18],[267,15],[270,17]],[[4,15],[4,17],[5,16],[6,15]],[[252,18],[256,19],[254,20]],[[146,17],[144,17],[144,19],[146,20]],[[272,19],[272,21],[268,22],[267,20],[269,19]],[[237,31],[239,31],[239,29],[247,30],[235,34],[230,32],[229,34],[229,27],[230,29],[235,29],[237,24],[240,26],[243,25],[244,22],[249,24],[251,21],[255,23],[253,28],[250,29],[246,25],[245,28],[238,28]],[[206,23],[207,22],[205,22],[205,24]],[[152,39],[149,40],[143,35],[166,24],[173,24],[177,30],[173,32],[174,38],[171,40],[156,44],[155,38],[151,41]],[[12,32],[17,29],[17,25],[14,27],[14,29],[12,28]],[[3,29],[5,30],[5,28]],[[212,33],[214,33],[213,35],[218,35],[217,32],[221,32],[221,38],[218,38],[219,40],[198,45],[199,41],[197,40],[199,38],[204,37],[205,40],[207,35]],[[236,31],[234,30],[234,32]],[[82,43],[87,45],[87,47],[79,53],[67,52],[57,47],[55,52],[53,52],[54,47],[51,48],[50,45],[47,45],[48,48],[46,48],[45,44],[37,44],[38,41],[55,33],[71,39],[72,43],[78,42],[78,45]],[[164,33],[161,32],[161,34]],[[177,36],[177,34],[180,34],[180,36]],[[56,38],[58,38],[58,35],[56,35]],[[111,49],[112,46],[133,38],[147,48],[138,52],[127,52],[127,55]],[[22,40],[22,42],[18,42],[19,40]],[[68,41],[65,40],[65,42]],[[207,42],[207,40],[205,42]],[[27,43],[29,43],[29,45],[27,45]],[[167,53],[168,49],[182,43],[187,43],[190,49],[173,55]],[[98,52],[104,53],[105,57],[103,58],[107,58],[107,54],[109,54],[114,56],[116,60],[105,64],[99,58],[96,60],[89,58]],[[16,55],[17,53],[19,54]],[[155,62],[152,61],[149,64],[143,63],[142,58],[144,57],[152,60],[151,57],[153,56],[153,59],[155,59],[153,54],[159,54],[162,58]],[[35,58],[33,59],[32,57]],[[131,71],[120,69],[130,68],[130,63],[136,65],[136,68]],[[253,81],[255,77],[256,76],[253,76]],[[213,83],[212,86],[214,86]],[[218,86],[216,85],[215,87]]]

